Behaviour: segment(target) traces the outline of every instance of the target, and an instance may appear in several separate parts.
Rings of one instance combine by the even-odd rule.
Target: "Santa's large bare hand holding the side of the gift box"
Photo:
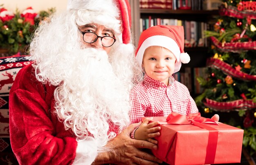
[[[113,163],[120,165],[156,165],[157,163],[162,163],[161,160],[152,154],[141,150],[142,148],[156,150],[157,145],[148,141],[135,140],[130,138],[130,133],[140,124],[141,122],[131,124],[114,139],[108,142],[107,146],[114,150],[114,152],[110,153],[110,159]]]

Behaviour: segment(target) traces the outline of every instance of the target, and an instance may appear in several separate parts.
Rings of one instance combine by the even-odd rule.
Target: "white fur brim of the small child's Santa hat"
[[[181,67],[180,47],[172,38],[164,35],[154,35],[144,40],[144,42],[141,44],[136,55],[137,62],[140,65],[142,65],[144,52],[146,48],[148,48],[149,46],[162,46],[170,50],[176,57],[174,73],[180,70],[180,67]]]

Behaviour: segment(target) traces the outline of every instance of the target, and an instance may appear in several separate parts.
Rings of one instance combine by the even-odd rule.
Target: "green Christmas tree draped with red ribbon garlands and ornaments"
[[[243,147],[256,152],[256,1],[226,0],[212,31],[205,89],[195,98],[205,113],[244,129]],[[209,115],[209,116],[210,116]]]

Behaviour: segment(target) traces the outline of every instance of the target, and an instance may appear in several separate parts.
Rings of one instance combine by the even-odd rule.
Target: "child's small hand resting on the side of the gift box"
[[[151,143],[157,144],[157,141],[153,139],[160,135],[158,132],[161,127],[155,127],[155,125],[159,124],[159,121],[155,121],[153,123],[149,123],[153,117],[146,118],[143,123],[139,126],[139,128],[134,133],[134,139],[149,141]]]

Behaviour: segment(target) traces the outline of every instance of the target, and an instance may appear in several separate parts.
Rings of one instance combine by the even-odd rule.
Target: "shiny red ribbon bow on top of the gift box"
[[[177,112],[171,112],[166,118],[166,121],[168,124],[195,124],[195,122],[197,122],[218,125],[218,123],[216,123],[216,121],[212,119],[201,117],[200,112],[195,114],[189,114],[189,116],[182,115]]]

